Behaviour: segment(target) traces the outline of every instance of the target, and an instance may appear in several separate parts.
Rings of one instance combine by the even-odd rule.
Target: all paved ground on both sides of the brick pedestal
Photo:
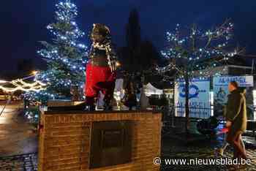
[[[0,110],[2,105],[3,103],[0,103]],[[33,126],[26,123],[23,116],[18,114],[18,107],[18,103],[12,103],[0,116],[0,171],[37,170],[37,134],[32,131]],[[222,145],[223,136],[211,137],[211,139],[197,137],[195,140],[185,143],[177,130],[179,129],[164,131],[162,159],[177,157],[186,159],[214,158],[214,148]],[[162,164],[161,170],[256,170],[256,141],[253,137],[243,138],[246,140],[248,156],[252,159],[251,165],[237,169],[231,166],[167,166]],[[231,152],[232,148],[228,148],[225,157],[231,159]]]

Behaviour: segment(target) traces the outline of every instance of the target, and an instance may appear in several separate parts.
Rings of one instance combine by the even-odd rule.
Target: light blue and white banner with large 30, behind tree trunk
[[[185,116],[185,82],[178,80],[175,87],[176,116]],[[210,78],[193,78],[189,82],[189,116],[208,118],[211,116]]]

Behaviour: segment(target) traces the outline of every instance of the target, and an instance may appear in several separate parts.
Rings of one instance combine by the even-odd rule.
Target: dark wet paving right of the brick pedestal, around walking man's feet
[[[211,140],[198,140],[189,144],[184,144],[176,139],[163,140],[162,145],[162,160],[164,159],[219,159],[214,155],[214,148],[221,145],[221,137],[213,138]],[[241,166],[239,168],[233,166],[223,165],[166,165],[162,162],[162,171],[164,170],[256,170],[256,148],[246,145],[247,155],[252,159],[252,164],[248,166]],[[224,157],[232,159],[232,148],[227,148]]]

